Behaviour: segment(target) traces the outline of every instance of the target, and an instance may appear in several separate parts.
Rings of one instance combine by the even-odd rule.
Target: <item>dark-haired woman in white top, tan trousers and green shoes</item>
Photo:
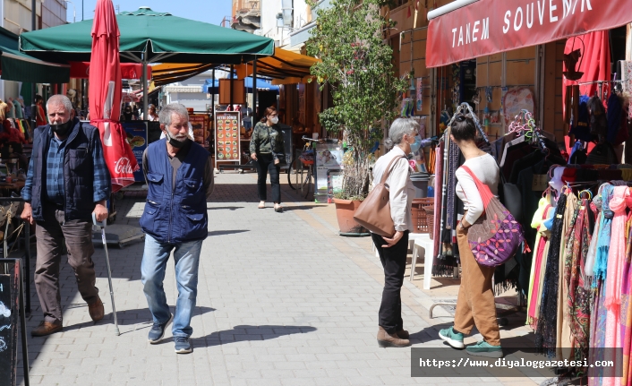
[[[476,127],[472,118],[459,114],[452,124],[450,138],[457,143],[463,153],[464,166],[469,167],[483,184],[489,186],[491,193],[497,195],[500,169],[491,155],[476,147],[475,136]],[[500,330],[496,322],[496,304],[491,284],[494,267],[486,267],[476,262],[467,243],[468,228],[483,214],[483,199],[476,188],[474,178],[463,168],[458,168],[455,176],[458,179],[457,196],[465,207],[463,219],[457,226],[458,253],[463,275],[458,290],[454,327],[440,330],[439,336],[451,347],[463,348],[463,335],[469,334],[476,326],[483,335],[483,340],[468,346],[467,354],[501,357]]]

